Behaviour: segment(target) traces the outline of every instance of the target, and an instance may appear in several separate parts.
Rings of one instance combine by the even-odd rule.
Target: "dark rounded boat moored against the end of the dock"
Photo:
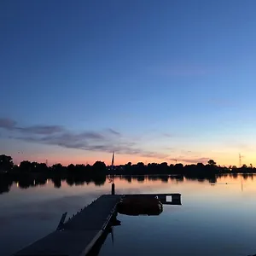
[[[163,205],[156,196],[125,195],[117,205],[117,211],[131,216],[160,215]]]

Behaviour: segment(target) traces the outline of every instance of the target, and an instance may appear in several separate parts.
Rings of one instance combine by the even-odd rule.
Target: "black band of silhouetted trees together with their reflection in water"
[[[209,160],[207,165],[198,163],[196,165],[176,164],[168,165],[166,162],[144,165],[142,162],[132,165],[131,162],[121,166],[106,166],[102,161],[96,161],[90,165],[69,165],[62,166],[55,164],[47,166],[45,163],[30,162],[24,160],[19,166],[14,165],[13,160],[8,155],[0,155],[0,194],[8,192],[12,183],[19,184],[20,189],[41,186],[50,180],[55,188],[61,188],[61,182],[65,181],[68,185],[84,185],[84,183],[94,183],[101,186],[106,180],[114,175],[125,179],[128,183],[136,179],[142,182],[145,178],[168,182],[169,178],[183,182],[183,178],[197,179],[198,181],[208,180],[215,183],[218,175],[233,175],[243,173],[247,178],[256,172],[253,166],[217,166],[214,160]],[[172,175],[172,177],[168,177]],[[137,177],[136,177],[137,176]]]

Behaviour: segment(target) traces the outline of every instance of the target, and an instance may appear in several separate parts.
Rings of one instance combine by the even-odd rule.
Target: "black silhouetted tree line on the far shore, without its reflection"
[[[202,163],[183,165],[168,165],[166,162],[157,164],[149,163],[145,165],[138,162],[132,165],[131,162],[120,166],[106,166],[102,161],[96,161],[90,165],[62,166],[60,163],[53,166],[47,166],[45,163],[21,161],[19,166],[14,165],[12,157],[0,155],[0,172],[11,174],[29,174],[29,173],[47,173],[49,175],[82,175],[87,177],[97,177],[102,175],[150,175],[150,174],[179,174],[191,176],[208,176],[221,173],[255,173],[256,168],[252,165],[243,165],[240,168],[236,166],[218,166],[214,160],[209,160],[206,165]]]

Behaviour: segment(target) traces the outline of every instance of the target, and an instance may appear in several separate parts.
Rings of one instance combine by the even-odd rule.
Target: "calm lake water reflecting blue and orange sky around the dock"
[[[139,179],[139,180],[138,180]],[[250,255],[256,253],[256,176],[209,181],[147,177],[116,178],[116,193],[181,193],[182,206],[164,206],[159,216],[118,215],[100,254],[105,255]],[[0,255],[10,255],[55,230],[63,212],[73,215],[110,184],[72,187],[62,182],[20,189],[14,183],[0,195]]]

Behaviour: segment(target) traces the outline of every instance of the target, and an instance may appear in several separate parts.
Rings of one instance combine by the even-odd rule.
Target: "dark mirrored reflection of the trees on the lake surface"
[[[221,177],[230,177],[234,180],[238,178],[239,174],[222,174],[214,175],[210,177],[191,177],[185,175],[117,175],[115,178],[118,178],[120,181],[125,181],[126,183],[145,183],[148,181],[160,181],[162,183],[169,183],[170,181],[175,181],[176,183],[183,183],[184,180],[197,181],[199,183],[208,182],[212,185],[217,183],[218,178]],[[250,179],[253,181],[253,173],[243,173],[240,175],[243,180]],[[67,183],[68,186],[84,186],[89,184],[94,184],[96,186],[103,186],[106,181],[109,179],[109,176],[101,175],[96,177],[88,176],[67,176],[67,177],[46,177],[44,175],[30,175],[25,174],[18,177],[12,177],[9,174],[0,174],[0,194],[8,193],[13,185],[19,187],[19,189],[28,189],[38,186],[45,186],[47,182],[51,181],[54,183],[55,189],[60,189],[61,184]]]

